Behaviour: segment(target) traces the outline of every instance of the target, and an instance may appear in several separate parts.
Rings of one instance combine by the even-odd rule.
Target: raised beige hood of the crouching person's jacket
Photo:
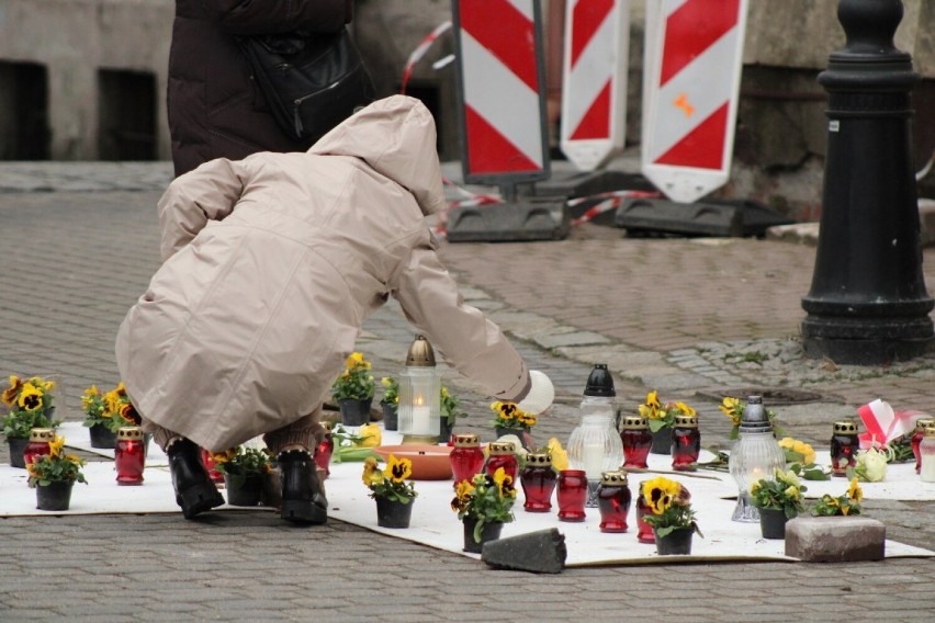
[[[435,120],[415,98],[373,102],[323,136],[308,154],[361,158],[412,192],[426,215],[446,205]]]

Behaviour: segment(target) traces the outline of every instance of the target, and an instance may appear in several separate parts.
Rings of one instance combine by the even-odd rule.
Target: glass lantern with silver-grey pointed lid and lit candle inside
[[[776,469],[784,469],[786,453],[773,434],[763,396],[747,399],[737,430],[740,434],[728,461],[728,468],[737,484],[737,505],[731,519],[755,523],[759,521],[759,511],[751,503],[750,487],[762,478],[773,479]]]

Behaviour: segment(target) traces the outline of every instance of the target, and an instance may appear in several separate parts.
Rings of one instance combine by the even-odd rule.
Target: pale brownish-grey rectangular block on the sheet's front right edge
[[[866,517],[797,517],[786,524],[786,555],[806,563],[881,560],[887,528]]]

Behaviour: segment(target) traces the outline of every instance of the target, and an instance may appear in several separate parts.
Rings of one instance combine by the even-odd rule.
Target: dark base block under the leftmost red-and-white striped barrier
[[[562,240],[571,230],[565,197],[521,197],[452,209],[448,216],[449,242],[517,242]]]

